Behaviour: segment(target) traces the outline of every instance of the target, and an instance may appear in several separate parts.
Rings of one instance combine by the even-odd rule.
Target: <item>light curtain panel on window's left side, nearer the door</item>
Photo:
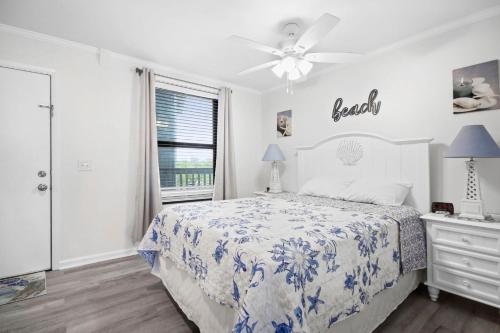
[[[144,68],[140,75],[139,165],[137,170],[136,240],[146,233],[149,224],[162,208],[158,142],[156,138],[155,74]]]

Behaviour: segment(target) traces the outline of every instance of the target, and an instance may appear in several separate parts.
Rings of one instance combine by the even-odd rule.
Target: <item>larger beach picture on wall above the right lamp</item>
[[[500,108],[498,60],[453,71],[453,113]]]

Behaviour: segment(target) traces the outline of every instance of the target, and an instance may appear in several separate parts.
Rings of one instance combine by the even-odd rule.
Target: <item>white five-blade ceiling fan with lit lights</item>
[[[285,75],[288,82],[298,80],[307,75],[315,62],[350,63],[356,61],[361,56],[360,54],[346,52],[307,53],[307,51],[325,37],[339,21],[340,19],[338,17],[325,13],[298,39],[298,24],[288,23],[283,29],[288,38],[280,44],[279,48],[267,46],[239,36],[229,37],[231,41],[281,58],[248,68],[238,74],[245,75],[272,67],[271,70],[277,77],[282,78]]]

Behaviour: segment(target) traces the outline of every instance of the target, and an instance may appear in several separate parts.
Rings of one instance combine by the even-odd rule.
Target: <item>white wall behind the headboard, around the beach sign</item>
[[[466,124],[484,124],[500,141],[500,110],[452,114],[452,70],[500,58],[500,17],[421,40],[361,63],[311,78],[295,87],[292,96],[284,88],[263,99],[264,139],[277,142],[287,157],[283,183],[296,190],[294,148],[316,143],[345,131],[365,131],[392,138],[432,137],[431,197],[453,202],[459,208],[465,184],[464,160],[443,159],[443,151]],[[379,90],[379,115],[331,119],[338,97],[344,105],[366,101],[371,89]],[[276,138],[276,112],[293,110],[293,136]],[[500,213],[500,159],[480,160],[485,208]]]

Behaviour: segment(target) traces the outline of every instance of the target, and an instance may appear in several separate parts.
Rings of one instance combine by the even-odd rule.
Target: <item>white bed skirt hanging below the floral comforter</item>
[[[187,272],[178,269],[168,258],[156,257],[152,273],[159,277],[179,307],[200,329],[201,333],[231,332],[237,311],[211,300]],[[370,304],[325,333],[369,333],[374,331],[415,290],[422,281],[422,272],[404,275],[394,288],[385,289]]]

